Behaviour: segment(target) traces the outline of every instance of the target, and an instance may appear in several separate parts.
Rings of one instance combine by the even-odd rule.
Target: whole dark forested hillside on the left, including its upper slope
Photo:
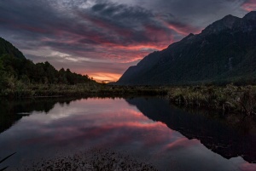
[[[34,64],[27,60],[19,49],[0,38],[0,88],[1,94],[35,84],[75,85],[96,82],[87,75],[69,69],[56,70],[49,62]],[[9,94],[9,93],[8,93]]]

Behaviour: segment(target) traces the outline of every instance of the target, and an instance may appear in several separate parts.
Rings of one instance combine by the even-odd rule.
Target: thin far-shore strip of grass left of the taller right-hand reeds
[[[100,83],[67,84],[25,84],[16,83],[15,86],[0,89],[0,96],[9,98],[65,96],[79,97],[91,94],[119,96],[128,94],[166,95],[166,88],[152,88],[147,86],[109,86]]]

